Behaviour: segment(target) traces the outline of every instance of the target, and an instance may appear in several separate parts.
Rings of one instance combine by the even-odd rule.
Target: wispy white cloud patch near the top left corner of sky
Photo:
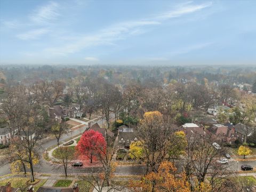
[[[51,23],[59,17],[59,4],[56,2],[49,2],[44,6],[38,7],[30,15],[30,19],[36,23]]]

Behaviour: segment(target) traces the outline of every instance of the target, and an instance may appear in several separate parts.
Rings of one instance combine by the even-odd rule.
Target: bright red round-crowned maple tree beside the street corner
[[[90,159],[90,163],[105,147],[105,138],[101,133],[94,130],[85,131],[76,146],[81,155],[85,155]]]

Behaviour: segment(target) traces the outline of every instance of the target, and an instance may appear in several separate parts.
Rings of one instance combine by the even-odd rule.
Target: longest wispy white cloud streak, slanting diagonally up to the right
[[[93,35],[82,35],[73,40],[71,43],[60,47],[49,47],[44,51],[48,54],[55,55],[66,55],[74,52],[81,51],[86,47],[102,45],[102,44],[113,44],[119,39],[124,39],[132,35],[138,35],[144,33],[146,30],[143,29],[147,26],[161,25],[161,23],[167,19],[181,17],[182,15],[197,12],[206,7],[211,6],[212,3],[204,3],[199,5],[192,5],[191,2],[182,4],[176,9],[155,15],[155,17],[148,17],[137,21],[125,21],[111,25],[105,29],[98,31]],[[74,38],[74,37],[73,37]]]

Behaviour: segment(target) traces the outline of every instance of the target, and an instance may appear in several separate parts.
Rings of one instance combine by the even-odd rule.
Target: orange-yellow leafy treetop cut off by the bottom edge
[[[171,163],[164,161],[158,167],[158,172],[151,172],[141,179],[141,181],[130,181],[129,187],[134,192],[189,192],[190,186],[185,174],[176,178],[177,168]]]

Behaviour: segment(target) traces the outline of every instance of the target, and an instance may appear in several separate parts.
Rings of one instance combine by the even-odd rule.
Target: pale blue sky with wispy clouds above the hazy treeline
[[[0,0],[0,65],[237,61],[256,65],[254,0]]]

